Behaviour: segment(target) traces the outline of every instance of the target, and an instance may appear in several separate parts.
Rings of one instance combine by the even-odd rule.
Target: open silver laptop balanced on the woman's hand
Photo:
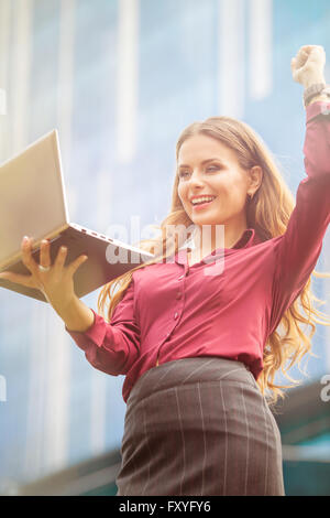
[[[57,130],[0,165],[0,271],[31,274],[21,260],[23,236],[33,238],[37,262],[42,239],[51,241],[52,263],[61,246],[67,247],[66,265],[88,256],[74,276],[78,298],[154,257],[69,222]],[[0,287],[47,302],[36,289],[6,279],[0,279]]]

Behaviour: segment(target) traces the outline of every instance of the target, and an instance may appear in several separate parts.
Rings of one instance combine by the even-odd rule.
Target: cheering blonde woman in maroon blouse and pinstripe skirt
[[[155,258],[102,289],[108,322],[74,293],[86,257],[64,267],[63,250],[52,266],[45,241],[36,265],[28,239],[32,274],[1,274],[42,290],[94,367],[127,375],[119,496],[284,495],[266,391],[272,402],[283,396],[276,370],[310,349],[298,324],[314,332],[320,322],[309,287],[330,219],[330,99],[316,86],[324,83],[324,57],[307,45],[292,61],[307,109],[307,177],[295,209],[253,130],[212,117],[182,133],[170,214],[161,238],[140,244]]]

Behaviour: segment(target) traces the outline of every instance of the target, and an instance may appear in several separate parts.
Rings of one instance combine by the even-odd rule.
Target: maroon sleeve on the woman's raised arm
[[[298,185],[287,229],[274,239],[270,334],[311,276],[330,222],[330,102],[307,107],[304,164],[307,176]]]

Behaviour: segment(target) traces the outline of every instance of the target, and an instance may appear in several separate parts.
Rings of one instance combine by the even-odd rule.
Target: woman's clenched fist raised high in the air
[[[305,88],[324,79],[326,51],[321,45],[304,45],[296,57],[292,58],[292,72],[295,82]]]

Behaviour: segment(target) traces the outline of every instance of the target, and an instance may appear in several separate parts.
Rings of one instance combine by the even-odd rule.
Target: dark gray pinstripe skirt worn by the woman
[[[117,496],[284,495],[277,423],[244,364],[184,358],[128,399]]]

